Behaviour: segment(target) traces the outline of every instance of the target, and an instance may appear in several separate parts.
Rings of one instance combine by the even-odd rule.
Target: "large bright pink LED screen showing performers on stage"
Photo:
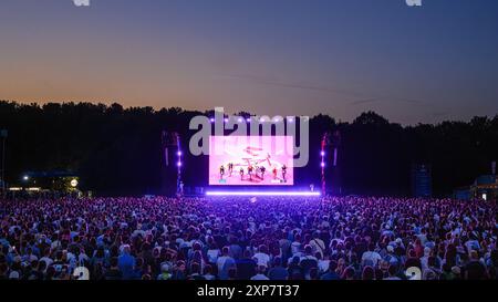
[[[209,185],[293,185],[292,139],[292,136],[210,136]]]

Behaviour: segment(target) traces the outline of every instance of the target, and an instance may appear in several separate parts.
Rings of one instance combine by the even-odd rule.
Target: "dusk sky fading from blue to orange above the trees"
[[[2,0],[0,100],[494,116],[498,1]]]

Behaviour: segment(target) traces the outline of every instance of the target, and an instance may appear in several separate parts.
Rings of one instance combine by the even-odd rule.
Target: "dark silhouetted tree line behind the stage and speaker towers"
[[[162,133],[178,132],[188,146],[191,117],[211,113],[181,108],[123,108],[91,103],[24,105],[0,102],[0,129],[7,140],[7,181],[21,183],[30,170],[71,170],[83,189],[100,195],[158,194],[164,181]],[[248,113],[243,113],[248,115]],[[310,163],[295,170],[295,183],[320,186],[320,142],[339,129],[339,164],[345,194],[409,195],[414,164],[432,166],[436,195],[490,173],[498,155],[498,115],[470,122],[401,126],[366,112],[352,123],[328,115],[310,121]],[[185,186],[205,186],[208,160],[185,149]]]

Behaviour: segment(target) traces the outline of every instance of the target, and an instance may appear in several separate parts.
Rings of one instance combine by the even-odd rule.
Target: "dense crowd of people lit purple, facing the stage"
[[[498,278],[496,201],[58,198],[0,202],[0,279]],[[80,268],[76,270],[76,268]]]

